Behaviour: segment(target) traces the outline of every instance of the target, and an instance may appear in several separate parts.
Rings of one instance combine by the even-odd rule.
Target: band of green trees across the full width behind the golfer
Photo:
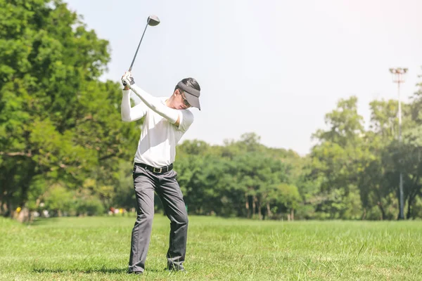
[[[130,211],[140,122],[120,121],[122,86],[98,79],[108,41],[61,1],[0,1],[0,9],[0,214]],[[373,100],[365,129],[354,96],[326,115],[328,129],[313,134],[305,157],[267,148],[255,133],[181,143],[174,169],[188,213],[396,219],[402,172],[405,218],[421,218],[421,87],[403,105],[402,143],[397,100]]]

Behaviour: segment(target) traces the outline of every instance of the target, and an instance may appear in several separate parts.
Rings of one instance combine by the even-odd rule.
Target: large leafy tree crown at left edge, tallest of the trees
[[[0,211],[10,214],[126,158],[137,129],[119,122],[120,86],[98,81],[108,41],[66,4],[0,0],[0,10]]]

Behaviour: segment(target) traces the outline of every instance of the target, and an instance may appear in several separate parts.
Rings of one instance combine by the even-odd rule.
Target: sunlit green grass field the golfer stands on
[[[134,217],[0,218],[0,280],[422,280],[422,221],[190,216],[188,273],[166,273],[157,214],[144,275],[127,275]]]

